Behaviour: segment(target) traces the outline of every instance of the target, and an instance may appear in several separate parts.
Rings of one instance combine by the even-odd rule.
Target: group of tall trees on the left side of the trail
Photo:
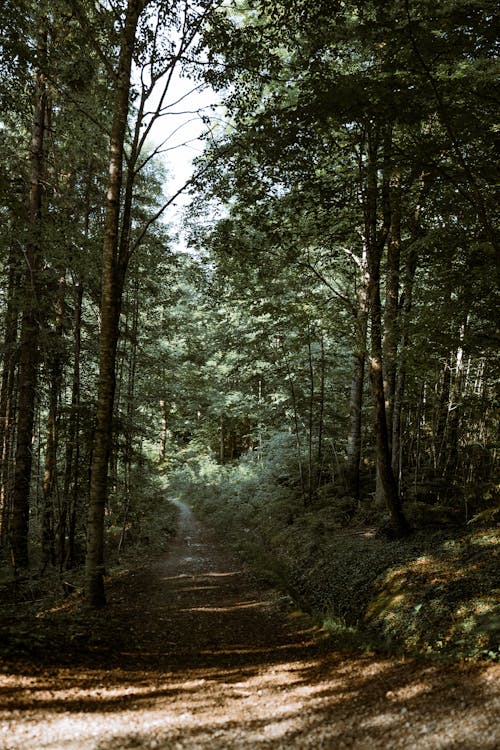
[[[104,600],[108,465],[121,429],[117,377],[128,401],[128,472],[134,442],[141,280],[136,270],[129,281],[128,269],[143,246],[164,248],[165,232],[152,228],[175,198],[163,197],[151,169],[164,142],[155,148],[147,139],[177,104],[169,91],[174,71],[196,61],[191,51],[213,6],[26,0],[1,17],[5,69],[18,76],[7,75],[2,87],[12,106],[1,123],[11,154],[2,181],[9,240],[1,260],[8,280],[1,536],[14,569],[26,567],[31,518],[40,525],[41,566],[64,566],[76,559],[76,526],[87,508],[86,594],[94,606]],[[14,87],[28,92],[15,106]],[[11,183],[24,191],[17,203]],[[123,307],[129,294],[130,310]],[[130,367],[122,386],[117,353],[125,334]]]

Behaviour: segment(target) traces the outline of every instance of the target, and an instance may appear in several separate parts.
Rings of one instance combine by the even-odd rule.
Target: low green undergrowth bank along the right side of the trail
[[[170,491],[206,515],[261,579],[322,618],[336,640],[499,659],[495,528],[434,526],[390,540],[377,534],[367,504],[331,488],[305,507],[295,475],[283,446],[226,466],[192,452],[171,471]]]

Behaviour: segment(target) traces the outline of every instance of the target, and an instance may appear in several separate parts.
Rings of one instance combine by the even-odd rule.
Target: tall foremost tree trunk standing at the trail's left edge
[[[109,178],[103,243],[99,384],[90,475],[85,574],[86,601],[92,607],[102,607],[106,603],[104,592],[104,510],[112,441],[116,349],[119,336],[123,281],[127,267],[126,258],[120,259],[118,257],[118,249],[120,246],[120,231],[123,242],[124,237],[129,237],[130,230],[123,222],[120,228],[120,197],[132,57],[137,24],[144,4],[143,0],[129,0],[128,2],[121,38],[110,136]],[[132,179],[132,176],[129,176],[129,179]]]

